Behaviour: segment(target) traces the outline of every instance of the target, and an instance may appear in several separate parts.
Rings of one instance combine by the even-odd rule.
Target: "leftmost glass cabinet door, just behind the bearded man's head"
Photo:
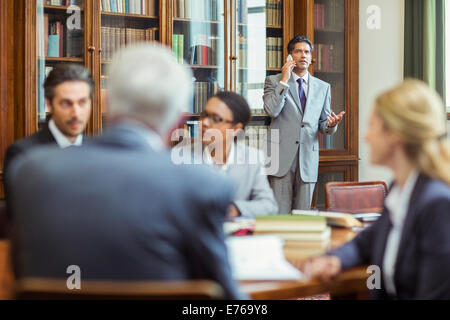
[[[85,65],[85,1],[37,0],[36,2],[37,124],[45,123],[47,106],[44,81],[62,63]]]

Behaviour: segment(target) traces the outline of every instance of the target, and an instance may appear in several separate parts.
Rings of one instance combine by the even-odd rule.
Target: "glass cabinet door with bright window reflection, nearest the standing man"
[[[254,115],[264,114],[266,76],[281,71],[284,61],[283,7],[280,0],[236,0],[236,91]]]

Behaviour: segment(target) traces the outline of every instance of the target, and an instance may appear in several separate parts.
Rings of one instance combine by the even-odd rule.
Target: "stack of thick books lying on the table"
[[[331,229],[325,217],[273,215],[255,218],[255,235],[276,235],[285,248],[323,251],[330,242]]]

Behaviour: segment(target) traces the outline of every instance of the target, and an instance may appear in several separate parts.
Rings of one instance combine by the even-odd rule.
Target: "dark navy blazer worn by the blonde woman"
[[[383,273],[389,212],[354,240],[330,252],[343,269],[377,265]],[[375,299],[450,299],[450,186],[421,174],[411,194],[394,271],[397,296],[388,297],[384,277]]]

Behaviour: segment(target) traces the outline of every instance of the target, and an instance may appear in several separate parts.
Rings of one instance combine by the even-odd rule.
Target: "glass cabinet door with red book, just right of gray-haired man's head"
[[[225,1],[173,0],[170,12],[169,45],[178,63],[192,69],[188,112],[198,115],[209,97],[225,89]]]

